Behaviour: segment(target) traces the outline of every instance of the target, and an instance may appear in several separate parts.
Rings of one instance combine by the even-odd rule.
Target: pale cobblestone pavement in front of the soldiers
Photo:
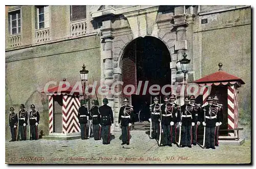
[[[115,133],[111,144],[102,140],[27,140],[6,141],[6,163],[250,163],[251,142],[242,146],[220,145],[216,150],[158,147],[145,131],[132,131],[130,145],[121,145],[121,132]]]

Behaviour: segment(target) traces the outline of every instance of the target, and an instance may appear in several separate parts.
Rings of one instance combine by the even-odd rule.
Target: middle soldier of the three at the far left
[[[19,133],[20,140],[27,139],[27,125],[28,125],[28,112],[25,110],[25,105],[20,104],[20,111],[18,114],[19,117]]]

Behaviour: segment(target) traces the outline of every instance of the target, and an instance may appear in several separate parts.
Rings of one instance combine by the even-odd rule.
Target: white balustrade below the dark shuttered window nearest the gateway
[[[70,34],[71,36],[80,36],[86,34],[86,19],[74,21],[70,23]]]

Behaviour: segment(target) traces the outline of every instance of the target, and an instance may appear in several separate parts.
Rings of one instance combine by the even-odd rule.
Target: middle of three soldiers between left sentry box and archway
[[[92,124],[93,124],[93,137],[95,140],[101,139],[101,125],[100,125],[100,113],[99,113],[99,102],[98,100],[92,101],[93,107],[90,110],[90,114],[92,116]]]

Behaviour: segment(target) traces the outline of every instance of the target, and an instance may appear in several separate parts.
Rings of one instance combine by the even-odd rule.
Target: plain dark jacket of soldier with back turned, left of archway
[[[99,113],[101,115],[100,124],[101,125],[111,125],[114,123],[112,108],[106,104],[99,107]]]

